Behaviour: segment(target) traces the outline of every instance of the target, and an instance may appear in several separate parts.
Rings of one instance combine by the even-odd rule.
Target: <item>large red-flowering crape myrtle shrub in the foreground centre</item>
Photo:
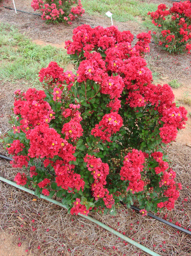
[[[15,91],[4,141],[14,167],[29,164],[18,184],[38,196],[56,193],[71,214],[114,215],[120,201],[155,212],[174,207],[181,184],[165,146],[187,111],[176,107],[170,86],[152,84],[144,60],[150,39],[140,33],[132,46],[130,31],[77,27],[66,42],[76,73],[51,62],[39,72],[44,90]]]

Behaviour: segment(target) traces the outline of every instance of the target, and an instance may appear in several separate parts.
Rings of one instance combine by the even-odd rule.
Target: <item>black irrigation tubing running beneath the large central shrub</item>
[[[6,157],[6,156],[3,156],[3,155],[1,155],[1,154],[0,154],[0,158],[3,158],[3,159],[5,159],[5,160],[9,160],[9,161],[12,161],[12,160],[13,160],[13,158]],[[121,202],[121,204],[122,204],[122,205],[125,205],[125,203],[123,203],[123,202]],[[135,207],[135,206],[131,206],[131,208],[132,208],[133,210],[136,210],[136,211],[140,211],[140,210],[141,210],[140,208]],[[156,216],[156,215],[154,215],[154,214],[151,214],[151,213],[149,213],[149,212],[147,212],[147,215],[148,215],[149,217],[152,217],[153,219],[156,219],[156,220],[158,220],[158,221],[163,222],[164,224],[167,224],[168,226],[171,226],[172,228],[178,229],[178,230],[180,230],[181,232],[184,232],[184,233],[186,233],[186,234],[188,234],[188,235],[191,235],[191,231],[189,231],[189,230],[187,230],[187,229],[181,228],[180,226],[177,226],[177,225],[175,225],[175,224],[173,224],[173,223],[171,223],[171,222],[169,222],[169,221],[167,221],[167,220],[163,220],[163,219],[159,218],[158,216]]]

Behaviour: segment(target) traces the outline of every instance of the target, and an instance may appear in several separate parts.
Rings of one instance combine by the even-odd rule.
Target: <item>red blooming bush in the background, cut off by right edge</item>
[[[156,12],[148,12],[152,23],[160,30],[158,44],[169,53],[190,53],[191,50],[191,2],[177,2],[168,10],[160,4]]]

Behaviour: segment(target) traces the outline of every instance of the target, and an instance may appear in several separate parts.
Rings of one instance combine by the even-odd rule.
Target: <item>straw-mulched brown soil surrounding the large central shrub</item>
[[[172,5],[172,1],[148,0],[157,4]],[[31,0],[16,0],[17,10],[34,12]],[[13,1],[3,1],[3,6],[14,8]],[[8,22],[19,28],[19,32],[28,36],[39,45],[53,45],[64,48],[65,41],[72,39],[72,31],[81,24],[95,27],[111,25],[110,19],[101,15],[85,15],[76,20],[72,26],[64,24],[46,24],[40,16],[17,12],[0,7],[0,22]],[[139,23],[116,22],[119,30],[130,30],[134,35],[147,31]],[[151,53],[145,56],[148,67],[157,73],[156,83],[167,84],[177,79],[181,87],[173,89],[175,100],[183,101],[191,97],[191,57],[173,55],[161,51],[157,45],[151,44]],[[68,67],[69,69],[70,67]],[[15,86],[15,85],[14,85]],[[4,114],[8,116],[10,99],[13,98],[14,86],[0,84],[0,100],[3,101]],[[16,85],[19,88],[19,81]],[[6,93],[4,93],[6,91]],[[191,106],[181,103],[191,113]],[[0,114],[1,116],[1,114]],[[1,116],[2,120],[4,119]],[[0,128],[6,130],[6,123]],[[168,149],[173,170],[177,172],[177,180],[183,185],[180,198],[172,212],[164,211],[161,217],[173,223],[180,223],[183,228],[191,228],[191,114],[188,116],[186,128],[179,131],[177,142]],[[6,154],[0,145],[0,154]],[[13,180],[16,172],[5,160],[0,160],[1,176]],[[18,189],[0,182],[0,256],[100,256],[100,255],[148,255],[95,224],[80,216],[68,215],[67,211],[44,200],[37,199]],[[166,216],[167,215],[167,216]],[[91,214],[97,220],[125,233],[129,238],[143,244],[163,256],[191,255],[189,235],[178,232],[156,220],[142,217],[133,210],[120,206],[115,217]],[[34,220],[34,222],[33,222]],[[18,246],[20,245],[21,246]],[[39,247],[38,247],[39,246]],[[28,251],[25,251],[28,250]]]

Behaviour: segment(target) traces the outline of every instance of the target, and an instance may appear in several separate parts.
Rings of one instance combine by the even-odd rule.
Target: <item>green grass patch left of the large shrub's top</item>
[[[39,84],[38,73],[55,61],[66,69],[69,62],[65,49],[39,46],[9,24],[0,23],[0,77],[4,81],[23,79]]]

